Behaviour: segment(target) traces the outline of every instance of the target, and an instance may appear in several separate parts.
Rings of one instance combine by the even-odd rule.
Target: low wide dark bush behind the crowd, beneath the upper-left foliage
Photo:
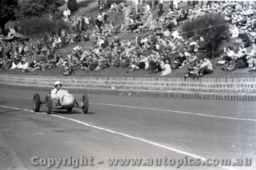
[[[69,30],[69,25],[63,20],[51,20],[49,17],[31,17],[20,23],[22,32],[28,36],[42,36],[47,33],[59,33],[61,29]]]

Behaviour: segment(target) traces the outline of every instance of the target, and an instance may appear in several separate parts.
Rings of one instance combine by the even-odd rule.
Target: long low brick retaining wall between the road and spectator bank
[[[72,92],[157,96],[201,100],[256,101],[256,77],[47,77],[0,74],[0,84],[24,89],[51,89],[56,80]]]

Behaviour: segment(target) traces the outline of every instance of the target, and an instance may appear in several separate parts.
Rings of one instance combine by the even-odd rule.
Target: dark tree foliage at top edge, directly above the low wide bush
[[[27,0],[20,2],[20,8],[16,10],[16,15],[19,19],[25,19],[29,17],[43,16],[47,13],[55,14],[55,12],[58,11],[58,6],[61,2],[62,0]]]

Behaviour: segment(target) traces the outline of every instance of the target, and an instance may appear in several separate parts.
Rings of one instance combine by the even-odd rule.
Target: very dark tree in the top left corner
[[[5,25],[9,20],[15,19],[15,10],[18,7],[18,0],[0,1],[0,27],[5,34]]]

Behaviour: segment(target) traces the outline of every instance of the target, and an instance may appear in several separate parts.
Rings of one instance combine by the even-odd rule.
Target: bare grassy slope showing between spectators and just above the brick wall
[[[127,2],[127,4],[130,4],[131,2]],[[67,5],[63,5],[60,7],[60,13],[62,14],[62,11],[66,9]],[[98,12],[98,3],[97,2],[92,2],[88,4],[86,7],[79,8],[76,12],[72,14],[72,17],[77,17],[79,15],[93,15],[95,16]],[[108,12],[108,11],[107,11]],[[153,14],[156,16],[157,15],[157,8],[153,10]],[[114,14],[108,12],[108,20],[114,20]],[[117,22],[120,23],[123,21],[123,13],[119,12],[117,13]],[[175,29],[179,29],[181,26]],[[143,33],[142,36],[146,34],[150,34],[151,32]],[[127,35],[125,33],[120,33],[119,34],[120,39],[131,39],[133,37],[136,37],[135,34],[128,33]],[[109,41],[113,39],[113,37],[108,37]],[[82,47],[90,48],[92,46],[92,41],[87,41],[80,43]],[[225,43],[224,45],[230,45],[229,43]],[[75,44],[71,44],[69,46],[65,46],[64,48],[60,48],[56,50],[56,53],[61,53],[63,56],[66,56],[66,54],[73,49]],[[172,57],[173,59],[175,57]],[[221,70],[221,67],[224,66],[219,66],[216,65],[217,62],[221,60],[221,57],[217,57],[214,59],[214,73],[210,75],[205,75],[205,77],[255,77],[256,72],[249,72],[249,68],[245,69],[238,69],[236,71],[232,72],[224,72]],[[212,62],[212,60],[211,60]],[[225,65],[227,66],[227,65]],[[129,70],[129,68],[106,68],[101,71],[83,71],[80,70],[80,67],[77,67],[77,72],[72,75],[72,76],[107,76],[107,77],[159,77],[161,74],[148,74],[147,70],[135,70],[130,73],[126,73],[126,71]],[[0,73],[2,74],[15,74],[15,75],[40,75],[40,76],[62,76],[63,68],[62,67],[57,67],[51,70],[37,70],[35,72],[30,72],[30,73],[25,73],[22,72],[22,70],[0,70]],[[175,69],[173,70],[173,73],[170,75],[167,75],[165,77],[184,77],[185,74],[187,74],[187,68],[181,68],[181,69]]]

